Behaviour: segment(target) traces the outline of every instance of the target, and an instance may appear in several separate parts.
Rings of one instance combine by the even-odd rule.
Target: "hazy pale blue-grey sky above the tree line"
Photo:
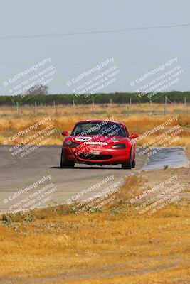
[[[48,57],[57,70],[49,84],[54,94],[71,92],[66,82],[112,57],[120,74],[104,92],[134,92],[131,81],[170,58],[177,58],[183,73],[168,90],[190,90],[190,26],[9,38],[177,25],[190,23],[189,11],[189,0],[1,1],[0,94],[7,94],[5,80]]]

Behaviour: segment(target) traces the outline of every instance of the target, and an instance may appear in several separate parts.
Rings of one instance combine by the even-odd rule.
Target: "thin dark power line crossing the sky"
[[[119,30],[107,30],[107,31],[83,31],[83,32],[75,32],[75,33],[49,33],[49,34],[39,34],[39,35],[6,35],[1,36],[0,40],[11,40],[11,39],[19,39],[19,38],[50,38],[56,36],[70,36],[70,35],[93,35],[93,34],[101,34],[101,33],[120,33],[125,31],[144,31],[144,30],[156,30],[159,28],[182,28],[190,26],[190,23],[181,23],[176,25],[169,26],[148,26],[144,28],[122,28]]]

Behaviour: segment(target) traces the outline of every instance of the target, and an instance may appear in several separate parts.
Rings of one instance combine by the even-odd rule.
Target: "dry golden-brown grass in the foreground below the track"
[[[12,217],[14,223],[0,227],[2,279],[188,283],[189,205],[170,205],[151,217],[137,214],[128,200],[146,182],[143,175],[127,178],[115,204],[102,213],[75,215],[60,206],[34,211],[28,224]]]

